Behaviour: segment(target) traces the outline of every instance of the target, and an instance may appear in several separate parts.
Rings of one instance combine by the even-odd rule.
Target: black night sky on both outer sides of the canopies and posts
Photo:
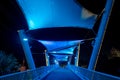
[[[104,0],[91,0],[91,1],[78,0],[78,2],[83,3],[83,5],[86,6],[86,8],[89,8],[91,11],[94,11],[95,13],[99,13],[102,10],[104,6],[103,4],[105,1]],[[99,9],[96,9],[96,8],[99,8]],[[113,68],[117,68],[120,70],[120,65],[118,65],[120,62],[120,59],[117,59],[117,60],[115,59],[111,61],[111,63],[115,61],[114,63],[116,64],[114,65],[117,67],[114,66],[112,68],[108,68],[107,71],[105,71],[105,69],[107,69],[106,67],[108,66],[104,66],[104,64],[106,63],[103,63],[103,62],[108,61],[107,55],[110,53],[110,50],[112,47],[115,47],[116,49],[120,50],[120,38],[119,38],[120,20],[119,19],[120,19],[120,0],[115,0],[113,10],[107,25],[105,37],[104,37],[102,48],[101,48],[100,58],[98,61],[98,67],[97,67],[98,71],[107,72],[117,76],[118,74],[120,75],[120,72],[117,72],[118,70],[116,71]],[[19,37],[18,37],[17,30],[27,29],[27,28],[28,28],[28,25],[26,23],[25,17],[21,12],[20,8],[18,7],[18,5],[16,4],[15,0],[1,0],[0,1],[0,50],[3,50],[7,53],[13,53],[21,62],[21,60],[24,59],[24,54],[23,54]],[[89,42],[86,44],[89,44]],[[89,55],[91,48],[89,49],[89,46],[86,44],[83,45],[83,49],[87,49],[88,52],[86,53],[88,53]],[[42,53],[42,51],[45,49],[45,47],[42,44],[37,44],[36,41],[32,41],[30,45],[36,45],[36,46],[32,46],[32,51],[34,53],[38,53],[38,52]],[[37,58],[40,57],[40,55],[38,56],[38,54],[34,54],[34,56]],[[36,63],[37,63],[37,60],[36,60]],[[108,61],[109,66],[112,65],[111,63],[110,61]],[[45,65],[45,64],[44,63],[42,64],[42,61],[41,61],[39,62],[38,66],[40,65]],[[103,65],[103,66],[100,66],[100,65]],[[109,71],[110,69],[113,69],[113,71]]]

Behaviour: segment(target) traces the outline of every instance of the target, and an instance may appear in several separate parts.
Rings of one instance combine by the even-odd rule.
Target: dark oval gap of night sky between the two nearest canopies
[[[35,29],[26,31],[26,34],[33,39],[48,41],[85,40],[96,36],[92,29],[75,27]]]

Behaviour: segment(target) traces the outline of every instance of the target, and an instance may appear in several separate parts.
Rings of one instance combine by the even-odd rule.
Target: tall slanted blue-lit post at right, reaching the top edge
[[[99,52],[100,52],[100,48],[101,48],[101,44],[104,38],[104,33],[107,27],[107,23],[109,20],[109,16],[112,10],[112,6],[113,6],[114,0],[107,0],[106,1],[106,5],[105,5],[105,10],[102,16],[102,20],[100,23],[100,27],[98,30],[98,34],[97,37],[95,39],[95,44],[93,46],[93,52],[90,58],[90,62],[89,62],[89,66],[88,69],[89,70],[93,70],[96,67],[96,63],[97,63],[97,59],[99,56]]]

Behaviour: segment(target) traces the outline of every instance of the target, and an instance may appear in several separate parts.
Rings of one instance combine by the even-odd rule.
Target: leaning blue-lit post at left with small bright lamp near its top
[[[33,60],[32,53],[31,53],[31,50],[28,44],[28,40],[24,34],[24,30],[18,30],[18,34],[20,37],[20,41],[22,43],[22,47],[23,47],[24,54],[25,54],[25,57],[28,63],[28,67],[29,69],[35,69],[34,60]]]

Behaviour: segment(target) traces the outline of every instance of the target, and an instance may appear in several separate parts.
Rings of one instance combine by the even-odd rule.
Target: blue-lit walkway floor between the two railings
[[[66,68],[58,68],[57,70],[49,73],[42,80],[82,80],[75,73],[66,69]]]

